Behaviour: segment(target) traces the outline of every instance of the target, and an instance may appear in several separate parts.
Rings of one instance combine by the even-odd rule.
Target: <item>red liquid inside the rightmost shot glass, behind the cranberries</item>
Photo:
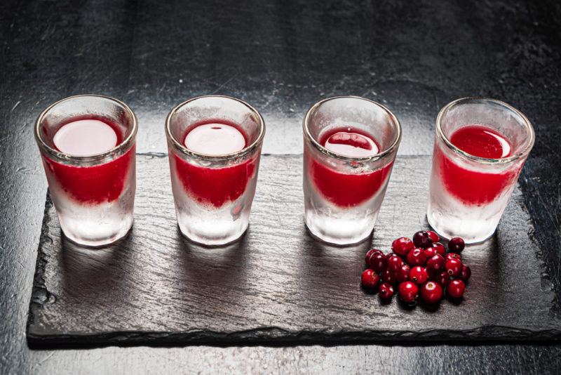
[[[468,125],[458,129],[450,137],[450,142],[476,157],[499,159],[512,154],[511,143],[501,133],[483,125]],[[439,147],[435,147],[434,158],[439,164],[438,171],[446,190],[464,204],[493,202],[518,178],[520,171],[485,173],[466,169],[454,163]]]

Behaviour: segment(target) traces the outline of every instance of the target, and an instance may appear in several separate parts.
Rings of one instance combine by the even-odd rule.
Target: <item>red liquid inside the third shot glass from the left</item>
[[[334,129],[320,138],[327,150],[350,157],[378,154],[379,145],[374,137],[352,128]],[[391,171],[390,163],[370,173],[342,173],[309,157],[309,173],[318,191],[332,204],[351,207],[372,198],[384,185]]]

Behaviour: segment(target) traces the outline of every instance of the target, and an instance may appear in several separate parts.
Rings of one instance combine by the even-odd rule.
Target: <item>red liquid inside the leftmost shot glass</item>
[[[71,121],[62,126],[53,138],[57,150],[74,156],[106,152],[122,140],[119,127],[106,119]],[[58,180],[69,197],[83,204],[100,204],[119,198],[134,155],[133,146],[121,157],[96,166],[72,166],[45,156],[43,163],[47,173]]]

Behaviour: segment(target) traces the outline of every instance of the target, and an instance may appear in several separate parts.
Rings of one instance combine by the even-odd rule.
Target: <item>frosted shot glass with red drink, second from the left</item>
[[[213,154],[186,147],[187,135],[226,124],[245,138],[236,152]],[[234,242],[248,228],[265,135],[261,114],[228,96],[199,96],[177,105],[165,121],[177,223],[183,235],[207,246]],[[212,139],[205,142],[212,143]],[[230,145],[222,145],[228,150]]]

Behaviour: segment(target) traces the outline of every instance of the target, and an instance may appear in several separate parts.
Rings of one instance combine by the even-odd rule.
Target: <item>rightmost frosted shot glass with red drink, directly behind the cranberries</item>
[[[489,140],[496,147],[475,143],[482,135],[473,138],[472,130],[466,128],[474,126],[475,131],[492,137]],[[530,121],[500,100],[462,98],[443,107],[436,118],[428,223],[442,237],[463,237],[466,243],[490,237],[533,145]],[[468,153],[466,146],[476,148]],[[481,157],[489,152],[494,157]],[[501,152],[505,157],[497,157]]]

